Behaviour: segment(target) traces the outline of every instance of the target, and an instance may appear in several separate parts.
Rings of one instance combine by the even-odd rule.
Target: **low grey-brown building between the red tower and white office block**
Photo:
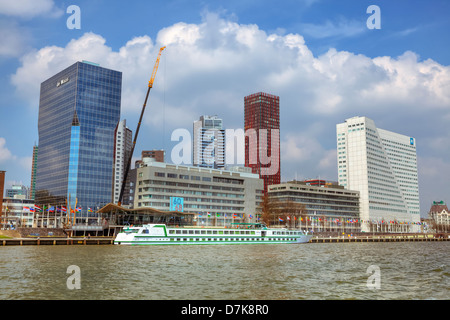
[[[321,180],[322,181],[322,180]],[[295,225],[320,232],[359,232],[359,192],[344,189],[336,183],[315,185],[311,181],[290,181],[268,188],[270,201],[300,203],[306,212],[296,217]],[[282,224],[294,222],[294,217],[284,214]],[[275,217],[277,221],[279,217]]]

